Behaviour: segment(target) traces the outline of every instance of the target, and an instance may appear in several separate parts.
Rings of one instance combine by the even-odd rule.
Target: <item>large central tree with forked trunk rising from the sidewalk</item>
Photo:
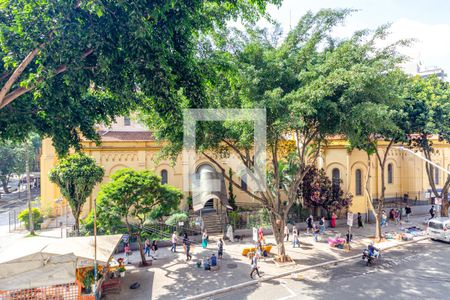
[[[222,40],[212,44],[207,39],[200,47],[208,87],[203,108],[267,111],[267,189],[253,192],[239,182],[233,181],[233,185],[268,209],[280,260],[286,259],[283,229],[287,214],[293,203],[302,201],[298,198],[299,186],[315,165],[321,145],[327,137],[341,132],[342,118],[349,107],[370,93],[378,93],[373,83],[393,66],[394,50],[375,46],[383,30],[359,32],[342,41],[332,38],[334,26],[349,12],[307,13],[282,42],[279,28],[274,34],[256,29],[226,32]],[[192,107],[198,107],[198,103],[189,99],[180,105],[180,109]],[[146,116],[157,136],[170,142],[169,153],[176,155],[182,148],[183,132],[178,126],[182,122],[172,117],[169,130],[169,119],[155,112]],[[256,170],[252,133],[249,122],[200,123],[196,129],[197,151],[230,180],[217,157],[234,154],[245,167]],[[282,170],[281,164],[288,161],[292,167]],[[253,176],[250,179],[264,184]]]

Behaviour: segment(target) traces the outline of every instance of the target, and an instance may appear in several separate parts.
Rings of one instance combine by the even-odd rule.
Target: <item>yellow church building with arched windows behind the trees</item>
[[[110,128],[101,128],[102,144],[97,146],[94,142],[83,141],[83,152],[92,156],[97,163],[105,169],[103,183],[109,181],[109,177],[115,171],[129,167],[137,170],[150,169],[175,187],[183,190],[183,166],[181,156],[175,164],[167,160],[157,160],[157,154],[161,144],[155,141],[151,132],[136,124],[128,118],[121,118]],[[354,195],[350,208],[353,212],[367,213],[369,210],[365,182],[368,172],[368,157],[363,151],[347,151],[347,142],[342,139],[333,139],[321,152],[318,167],[324,168],[327,175],[334,180],[341,180],[344,192]],[[450,169],[450,145],[434,142],[437,151],[433,161]],[[383,145],[380,145],[381,150]],[[380,168],[375,157],[371,159],[370,192],[377,199],[381,192]],[[51,145],[51,140],[43,141],[41,156],[41,206],[45,211],[55,210],[60,193],[56,185],[48,179],[49,170],[56,164],[57,156]],[[195,162],[195,170],[199,174],[216,170],[208,159],[199,157]],[[435,169],[435,178],[438,187],[445,181],[444,172]],[[201,175],[200,175],[201,176]],[[226,183],[228,184],[228,183]],[[228,185],[226,185],[228,186]],[[425,173],[425,163],[418,157],[403,152],[400,149],[392,149],[388,156],[386,167],[386,197],[388,199],[401,199],[405,194],[409,199],[425,200],[429,189],[428,178]],[[92,209],[93,198],[99,190],[97,186],[84,206],[83,216]],[[257,206],[258,202],[248,194],[234,189],[236,201],[241,206]],[[185,192],[181,206],[186,208],[188,192]],[[218,198],[212,197],[207,206],[219,207]]]

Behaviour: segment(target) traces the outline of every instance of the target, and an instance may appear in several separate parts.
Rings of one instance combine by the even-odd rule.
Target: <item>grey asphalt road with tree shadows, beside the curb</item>
[[[450,299],[449,257],[450,244],[425,240],[385,251],[370,267],[355,259],[213,299]]]

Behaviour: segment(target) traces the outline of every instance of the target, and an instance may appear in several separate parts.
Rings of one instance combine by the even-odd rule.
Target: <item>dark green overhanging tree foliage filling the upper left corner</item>
[[[30,131],[60,154],[136,105],[166,112],[201,98],[199,32],[255,21],[281,0],[4,0],[0,2],[0,138]],[[141,95],[151,98],[142,103]]]

